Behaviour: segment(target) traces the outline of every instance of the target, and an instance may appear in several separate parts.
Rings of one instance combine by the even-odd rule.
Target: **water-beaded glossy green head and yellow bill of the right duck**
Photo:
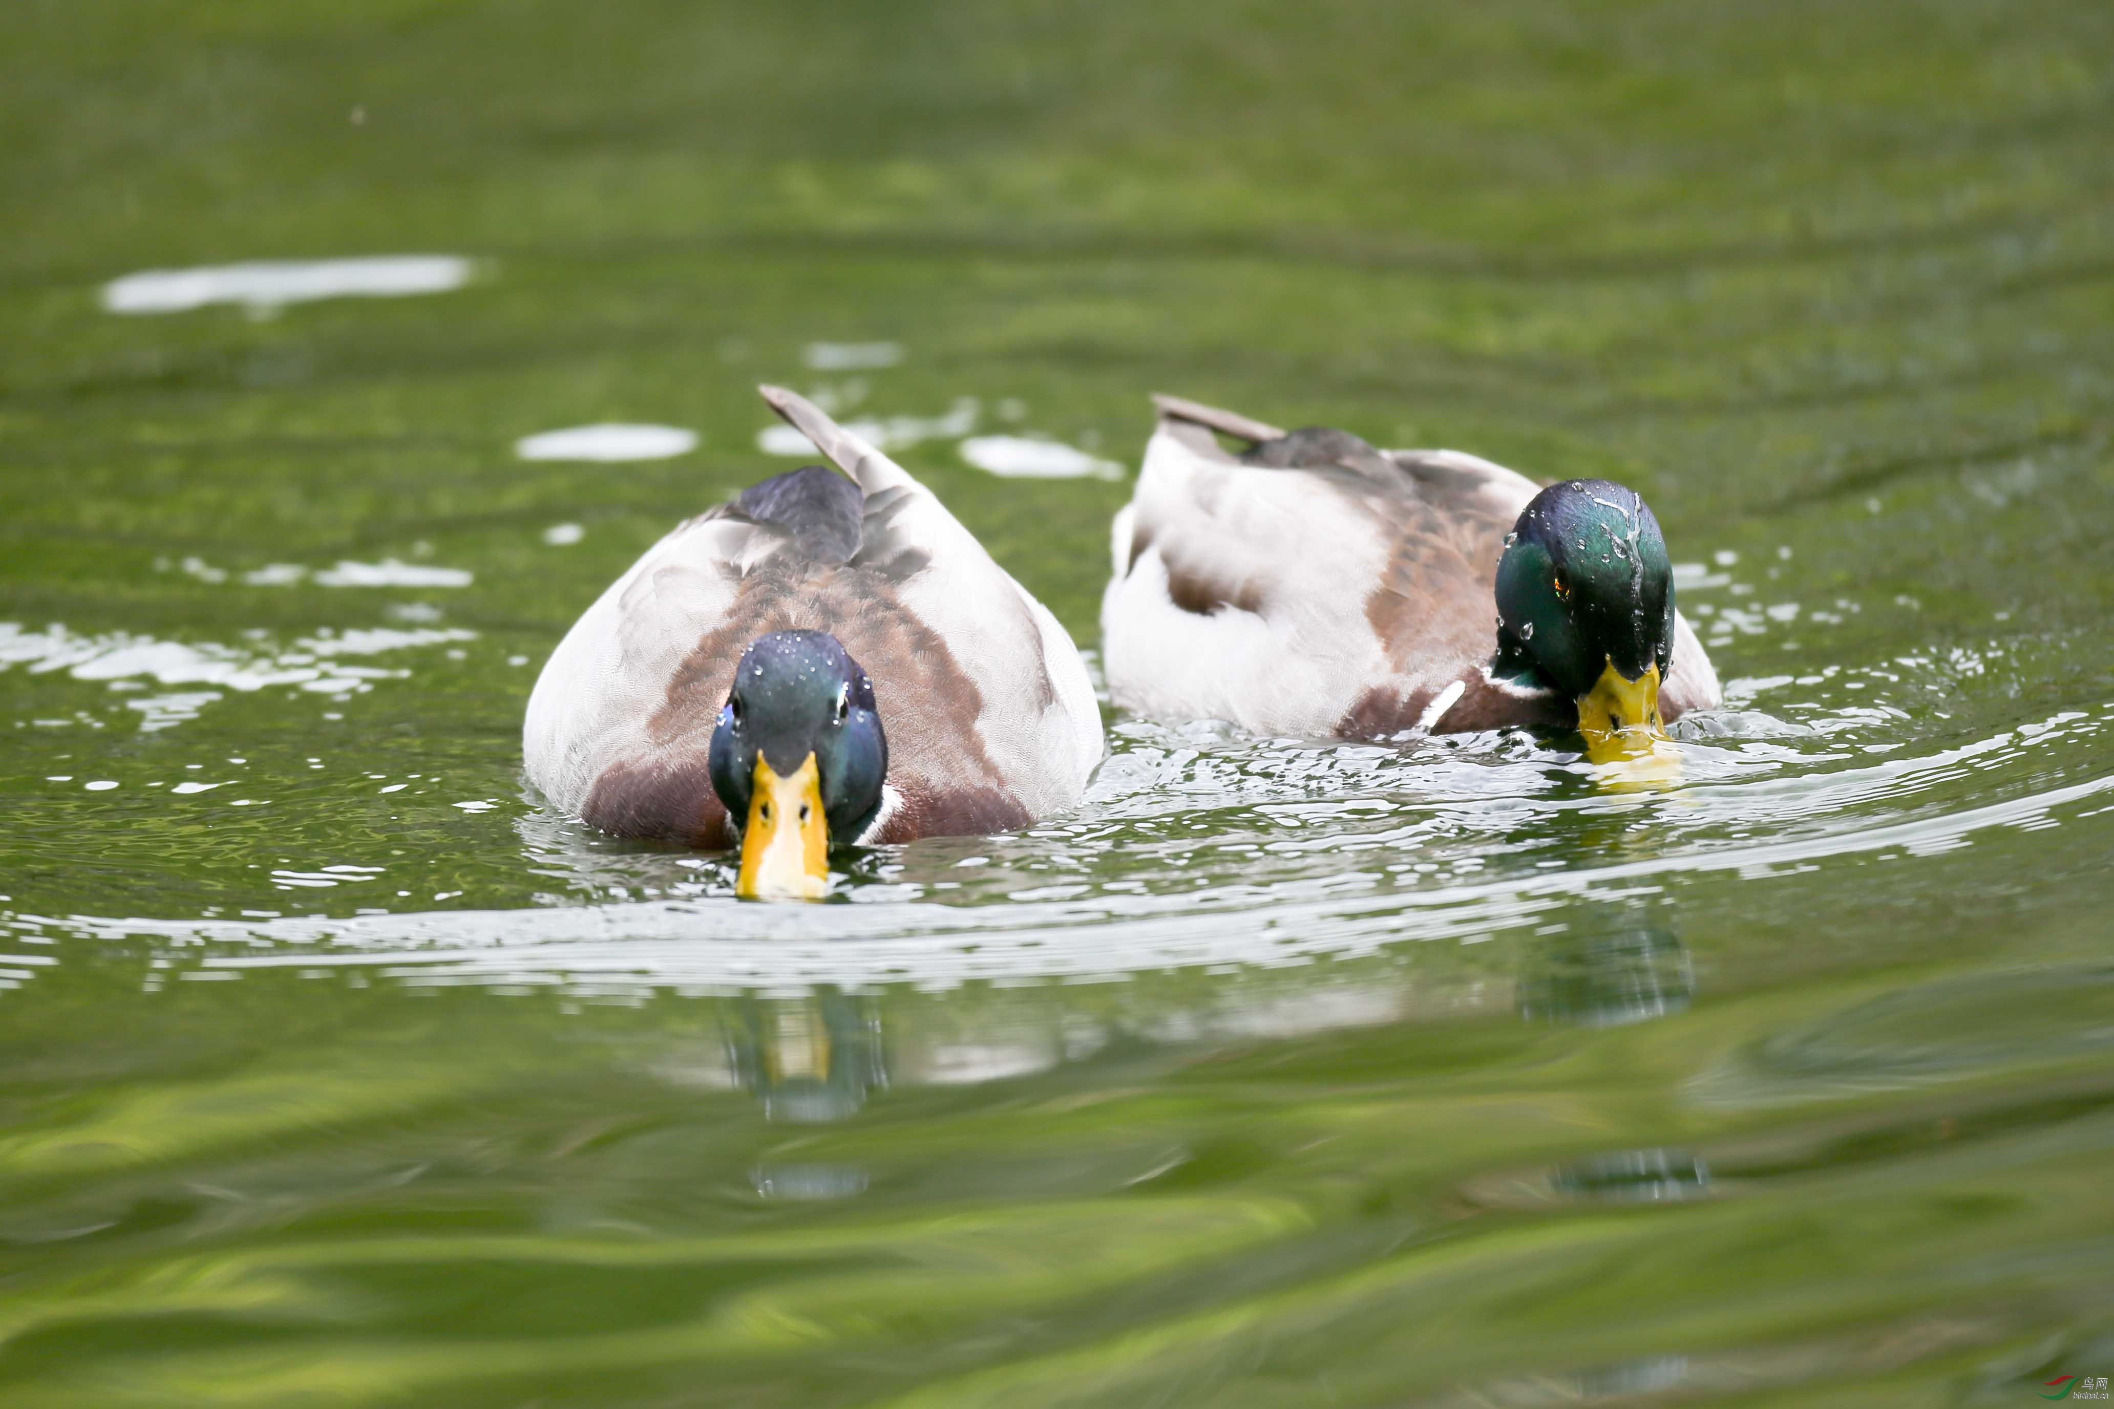
[[[1577,701],[1588,752],[1664,737],[1659,682],[1674,655],[1674,566],[1645,499],[1611,480],[1535,494],[1497,564],[1499,657]],[[1611,752],[1628,752],[1613,748]]]

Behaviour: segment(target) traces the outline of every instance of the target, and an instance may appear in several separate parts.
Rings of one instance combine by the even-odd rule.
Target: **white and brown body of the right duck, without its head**
[[[1457,450],[1374,450],[1345,431],[1235,433],[1260,444],[1232,454],[1165,414],[1146,448],[1101,598],[1116,703],[1353,739],[1575,722],[1569,701],[1488,670],[1497,560],[1539,492],[1533,480]],[[1685,621],[1674,674],[1674,712],[1714,703]]]

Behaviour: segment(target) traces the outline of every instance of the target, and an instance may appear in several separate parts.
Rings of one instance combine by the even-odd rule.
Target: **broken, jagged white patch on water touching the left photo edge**
[[[361,695],[374,689],[374,680],[402,680],[410,672],[351,665],[345,657],[372,657],[457,640],[476,640],[476,632],[404,632],[395,627],[319,632],[279,651],[209,640],[154,640],[131,632],[76,636],[63,625],[25,632],[15,621],[0,621],[0,670],[11,665],[25,665],[30,674],[63,670],[74,680],[101,680],[110,689],[137,689],[140,682],[148,680],[214,687],[127,699],[125,706],[142,714],[142,731],[156,731],[197,718],[199,710],[222,697],[222,691],[252,693],[288,687],[317,695]]]

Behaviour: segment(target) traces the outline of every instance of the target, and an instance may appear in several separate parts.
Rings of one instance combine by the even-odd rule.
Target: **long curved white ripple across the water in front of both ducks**
[[[1355,957],[1402,940],[1478,940],[1537,923],[1579,898],[1636,894],[1670,875],[1769,875],[1829,858],[1930,856],[1977,832],[2029,828],[2114,792],[2114,773],[1888,826],[1837,830],[1573,866],[1482,883],[1380,889],[1338,872],[1184,894],[1118,891],[1006,906],[869,900],[829,906],[734,904],[719,896],[505,910],[355,915],[349,919],[182,921],[13,915],[32,934],[152,936],[209,953],[207,970],[419,965],[463,982],[518,982],[524,972],[575,982],[799,987],[1120,976],[1243,963],[1275,967]],[[1249,923],[1230,925],[1241,915]]]

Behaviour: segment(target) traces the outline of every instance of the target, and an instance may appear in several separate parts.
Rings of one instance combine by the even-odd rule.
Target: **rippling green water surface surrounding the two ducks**
[[[8,1409],[2114,1375],[2106,4],[4,30]],[[471,277],[106,308],[395,253]],[[1651,792],[1110,712],[1076,813],[738,904],[518,731],[799,463],[757,380],[894,422],[1089,651],[1150,391],[1626,480],[1727,708]],[[516,454],[592,422],[700,444]]]

